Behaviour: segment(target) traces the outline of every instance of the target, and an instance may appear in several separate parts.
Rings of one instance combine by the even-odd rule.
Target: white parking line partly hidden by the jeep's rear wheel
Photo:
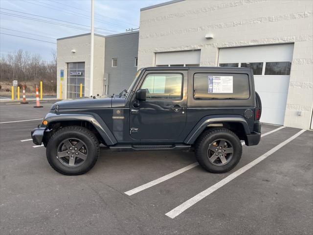
[[[272,131],[266,132],[263,135],[261,135],[261,137],[267,136],[267,135],[269,135],[271,133],[274,133],[275,131],[281,130],[283,128],[284,128],[284,126],[281,126],[281,127],[276,128],[276,129],[274,129]],[[245,145],[245,141],[243,141],[241,144]],[[162,182],[164,182],[166,180],[169,180],[169,179],[171,179],[171,178],[173,178],[173,177],[175,177],[175,176],[177,176],[177,175],[179,175],[179,174],[181,174],[181,173],[183,173],[183,172],[185,172],[187,170],[190,170],[190,169],[194,168],[197,165],[199,165],[199,164],[198,163],[193,163],[193,164],[187,165],[187,166],[185,166],[185,167],[183,167],[183,168],[181,168],[181,169],[179,169],[177,171],[174,171],[174,172],[172,172],[170,174],[164,175],[164,176],[162,176],[162,177],[160,177],[160,178],[158,178],[156,180],[150,181],[147,184],[144,184],[144,185],[139,186],[137,188],[131,189],[131,190],[125,192],[125,194],[131,196],[131,195],[133,195],[133,194],[135,194],[137,192],[140,192],[140,191],[142,191],[144,189],[150,188],[150,187],[155,186],[155,185],[157,185],[159,183],[162,183]]]

